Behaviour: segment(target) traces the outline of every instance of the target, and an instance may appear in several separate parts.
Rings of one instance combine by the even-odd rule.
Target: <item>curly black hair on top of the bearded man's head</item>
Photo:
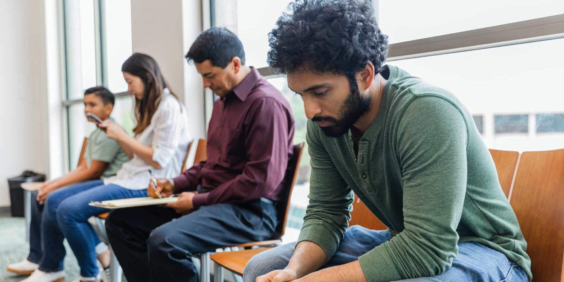
[[[267,61],[281,74],[307,68],[351,77],[369,61],[378,73],[387,38],[368,0],[297,0],[268,33]]]

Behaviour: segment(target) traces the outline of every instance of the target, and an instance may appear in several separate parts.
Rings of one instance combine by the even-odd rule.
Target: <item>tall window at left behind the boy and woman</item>
[[[68,165],[73,169],[84,137],[95,129],[86,121],[84,90],[98,85],[116,94],[112,117],[131,132],[133,100],[121,64],[131,55],[130,0],[62,0],[65,37],[65,95]]]

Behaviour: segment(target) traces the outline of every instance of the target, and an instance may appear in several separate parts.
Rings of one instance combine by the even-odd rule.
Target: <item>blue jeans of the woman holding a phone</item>
[[[102,180],[82,182],[50,193],[41,220],[43,258],[39,263],[39,270],[63,270],[66,254],[63,240],[66,238],[80,266],[80,275],[96,277],[98,266],[94,248],[100,239],[88,218],[105,213],[108,209],[89,206],[88,203],[146,196],[146,190],[104,185]]]

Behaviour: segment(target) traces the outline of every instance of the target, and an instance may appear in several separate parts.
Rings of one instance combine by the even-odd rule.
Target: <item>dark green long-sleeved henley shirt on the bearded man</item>
[[[531,279],[527,243],[470,112],[447,90],[389,70],[358,156],[350,131],[332,138],[308,121],[310,204],[298,241],[318,244],[331,259],[354,191],[392,236],[359,257],[368,281],[442,273],[464,242],[503,253]]]

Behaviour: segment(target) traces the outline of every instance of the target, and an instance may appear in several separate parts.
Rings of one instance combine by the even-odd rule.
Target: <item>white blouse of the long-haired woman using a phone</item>
[[[161,169],[153,168],[134,154],[125,162],[117,174],[104,179],[104,184],[116,184],[130,190],[143,190],[149,186],[153,170],[156,178],[173,178],[180,174],[190,134],[188,133],[188,114],[184,104],[179,103],[168,89],[162,93],[161,103],[147,126],[135,139],[146,146],[153,147],[153,161]]]

